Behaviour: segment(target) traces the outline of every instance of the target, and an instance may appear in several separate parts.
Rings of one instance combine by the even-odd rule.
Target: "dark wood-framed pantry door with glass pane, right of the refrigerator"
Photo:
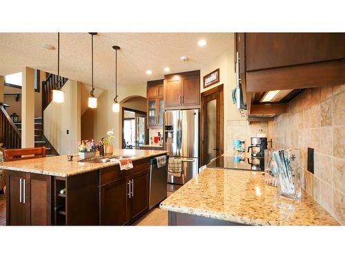
[[[201,165],[224,153],[223,85],[201,94]]]

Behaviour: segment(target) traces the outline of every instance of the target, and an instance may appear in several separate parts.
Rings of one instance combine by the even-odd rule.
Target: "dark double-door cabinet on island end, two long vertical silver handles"
[[[52,181],[49,175],[7,171],[6,224],[52,224]]]

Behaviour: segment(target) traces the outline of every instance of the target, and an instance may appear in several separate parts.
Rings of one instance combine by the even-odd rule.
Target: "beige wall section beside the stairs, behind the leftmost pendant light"
[[[77,153],[81,140],[80,89],[77,81],[68,80],[63,86],[64,103],[52,102],[44,111],[44,134],[59,154]]]

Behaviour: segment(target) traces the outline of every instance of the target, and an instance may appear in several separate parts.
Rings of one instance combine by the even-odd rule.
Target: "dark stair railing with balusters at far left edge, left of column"
[[[0,103],[0,142],[6,149],[21,148],[21,132]]]

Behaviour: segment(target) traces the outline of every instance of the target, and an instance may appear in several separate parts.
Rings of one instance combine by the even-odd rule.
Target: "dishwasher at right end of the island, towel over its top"
[[[166,177],[168,176],[168,156],[166,165],[157,167],[157,160],[150,159],[150,197],[149,208],[166,199]]]

